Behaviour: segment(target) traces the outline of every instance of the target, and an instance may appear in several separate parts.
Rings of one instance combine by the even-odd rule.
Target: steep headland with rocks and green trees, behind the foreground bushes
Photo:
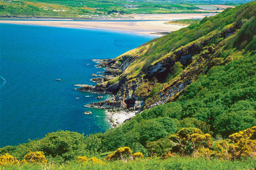
[[[205,17],[111,60],[109,68],[120,68],[120,75],[98,84],[110,92],[115,87],[116,100],[104,108],[136,109],[142,100],[137,108],[145,111],[99,135],[103,150],[143,151],[182,127],[228,136],[255,126],[255,4]]]

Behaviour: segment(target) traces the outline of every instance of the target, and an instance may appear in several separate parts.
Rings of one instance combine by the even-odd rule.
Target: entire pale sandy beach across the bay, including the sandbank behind
[[[167,23],[174,19],[199,19],[216,14],[165,14],[165,15],[125,15],[134,21],[70,21],[70,20],[0,20],[0,23],[15,23],[33,26],[56,26],[62,28],[84,28],[119,32],[131,32],[139,35],[158,35],[159,32],[172,32],[186,26]],[[141,21],[138,21],[141,20]],[[152,20],[152,21],[149,21]]]

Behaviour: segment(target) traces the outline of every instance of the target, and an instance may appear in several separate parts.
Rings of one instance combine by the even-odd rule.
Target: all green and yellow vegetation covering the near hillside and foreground
[[[255,6],[253,1],[229,8],[125,54],[136,53],[136,60],[118,79],[130,81],[140,76],[148,79],[135,91],[138,97],[147,98],[145,108],[161,100],[174,82],[190,82],[165,104],[145,109],[106,133],[84,136],[57,131],[40,140],[3,147],[2,166],[7,169],[255,168]],[[178,52],[190,54],[188,62],[175,60]],[[147,77],[157,62],[173,65],[165,75]]]

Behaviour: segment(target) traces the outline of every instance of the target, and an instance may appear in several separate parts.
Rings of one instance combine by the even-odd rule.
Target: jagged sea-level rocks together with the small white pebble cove
[[[100,108],[104,109],[107,115],[107,121],[110,122],[111,126],[118,126],[129,120],[131,117],[138,113],[142,102],[136,100],[124,99],[122,96],[117,95],[120,88],[122,88],[123,81],[115,80],[122,71],[129,66],[132,59],[125,58],[125,62],[117,62],[115,59],[93,59],[96,62],[96,67],[104,68],[104,72],[101,75],[93,74],[92,82],[97,82],[95,86],[87,84],[75,84],[77,86],[75,90],[97,94],[109,94],[107,100],[100,102],[93,102],[86,104],[89,108]],[[100,77],[99,77],[100,76]]]

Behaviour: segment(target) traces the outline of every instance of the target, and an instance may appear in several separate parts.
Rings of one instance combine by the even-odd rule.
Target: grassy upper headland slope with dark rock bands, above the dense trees
[[[133,59],[118,78],[128,83],[143,77],[133,95],[145,100],[145,108],[174,101],[199,75],[207,75],[212,66],[254,55],[253,15],[255,2],[153,39],[116,59]]]

